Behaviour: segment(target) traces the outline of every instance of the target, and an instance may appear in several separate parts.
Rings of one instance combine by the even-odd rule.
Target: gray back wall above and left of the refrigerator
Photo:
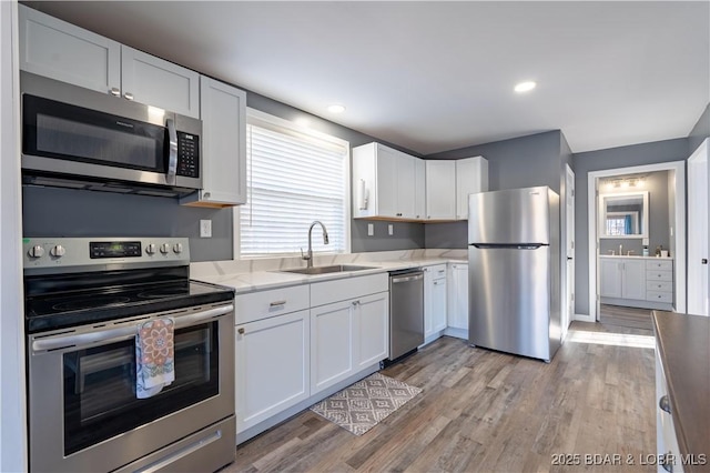
[[[493,143],[462,148],[428,155],[427,159],[462,159],[483,155],[488,160],[488,188],[500,189],[549,185],[560,192],[559,130]],[[566,143],[566,141],[565,141]],[[569,149],[569,147],[567,148]],[[571,153],[569,153],[571,155]],[[562,164],[564,167],[564,164]],[[426,248],[466,248],[467,222],[427,223]]]

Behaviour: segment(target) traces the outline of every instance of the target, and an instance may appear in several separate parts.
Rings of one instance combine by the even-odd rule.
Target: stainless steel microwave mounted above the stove
[[[24,183],[183,195],[202,189],[202,122],[21,71]]]

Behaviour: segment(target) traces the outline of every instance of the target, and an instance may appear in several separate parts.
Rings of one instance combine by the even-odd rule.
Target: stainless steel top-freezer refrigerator
[[[559,195],[468,197],[468,341],[549,362],[560,346]]]

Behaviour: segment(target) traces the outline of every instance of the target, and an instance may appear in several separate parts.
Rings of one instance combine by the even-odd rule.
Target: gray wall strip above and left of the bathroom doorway
[[[587,212],[587,178],[591,171],[682,161],[688,158],[688,140],[611,148],[577,153],[575,163],[575,312],[589,314],[589,230]]]

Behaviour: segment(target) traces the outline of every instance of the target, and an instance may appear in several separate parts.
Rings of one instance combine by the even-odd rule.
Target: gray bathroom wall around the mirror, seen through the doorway
[[[646,178],[646,184],[642,189],[627,189],[625,191],[607,191],[601,189],[600,194],[606,192],[626,193],[648,191],[648,229],[649,229],[649,253],[656,253],[656,246],[662,245],[663,250],[670,249],[670,209],[668,205],[668,171],[651,172]],[[600,239],[599,254],[608,254],[613,250],[619,254],[619,245],[623,245],[623,254],[633,250],[635,254],[642,254],[642,240],[639,239]],[[672,255],[672,254],[671,254]]]

